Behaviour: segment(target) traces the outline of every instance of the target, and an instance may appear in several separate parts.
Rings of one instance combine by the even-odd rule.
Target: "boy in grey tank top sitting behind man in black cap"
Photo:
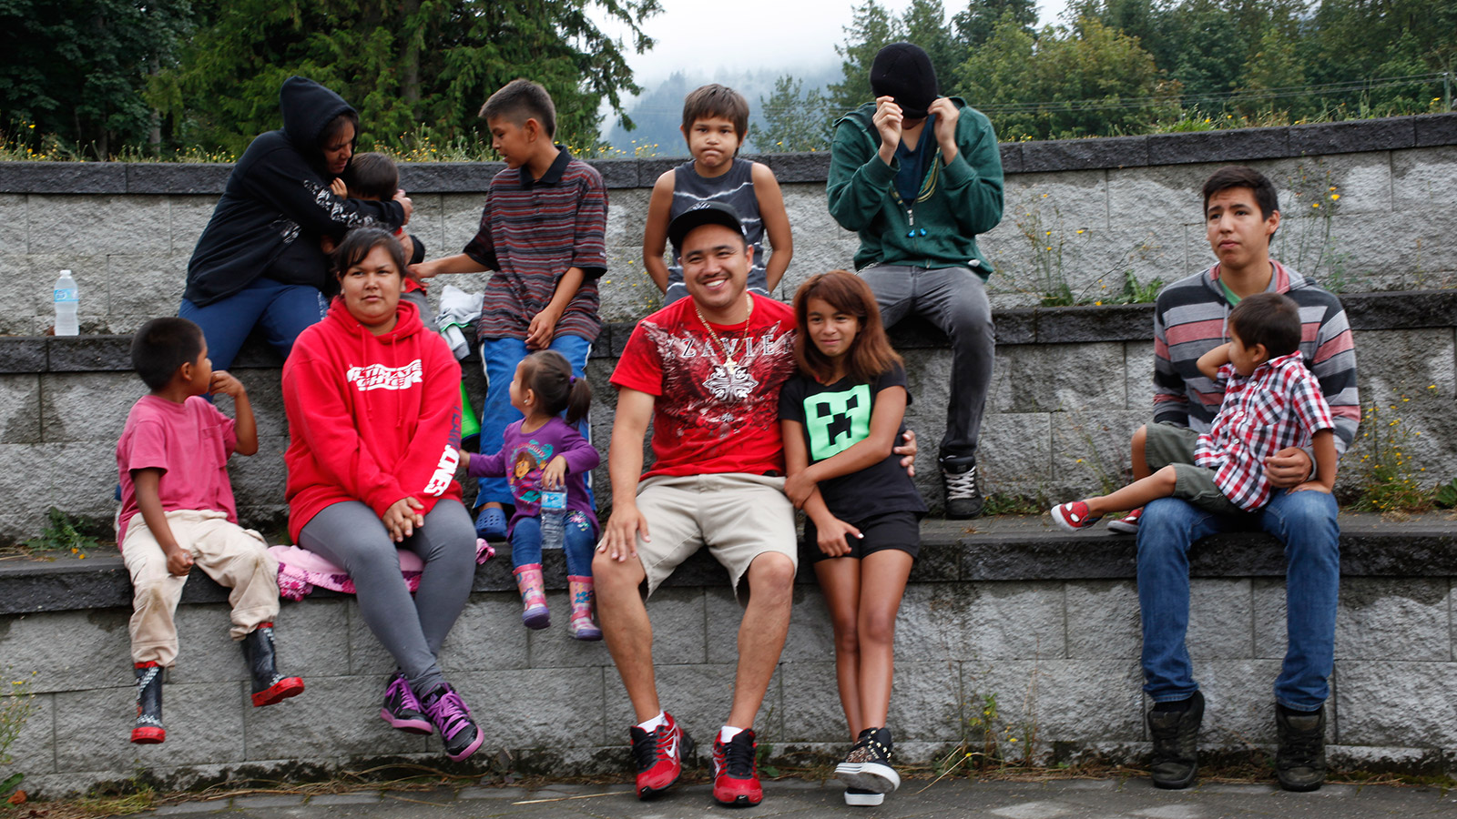
[[[643,267],[663,291],[664,305],[688,294],[678,252],[672,264],[663,258],[667,224],[704,203],[724,203],[739,211],[743,233],[753,245],[749,290],[772,297],[790,267],[794,243],[779,182],[769,166],[739,159],[747,130],[749,103],[739,92],[711,83],[683,98],[682,131],[694,159],[657,178],[643,230]],[[769,254],[763,251],[765,236]]]

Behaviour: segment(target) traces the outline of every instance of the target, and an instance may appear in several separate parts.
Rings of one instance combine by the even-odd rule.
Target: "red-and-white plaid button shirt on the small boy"
[[[1254,512],[1271,497],[1265,459],[1308,446],[1316,431],[1333,430],[1336,423],[1298,350],[1265,361],[1249,377],[1224,364],[1218,380],[1225,383],[1224,402],[1209,431],[1199,436],[1193,462],[1214,469],[1214,482],[1230,501]]]

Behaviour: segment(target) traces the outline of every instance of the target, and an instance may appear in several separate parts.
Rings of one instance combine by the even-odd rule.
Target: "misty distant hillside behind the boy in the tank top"
[[[603,124],[606,143],[627,153],[640,156],[688,156],[688,144],[678,130],[683,122],[683,98],[688,92],[705,83],[723,83],[749,101],[749,122],[759,122],[761,98],[774,93],[774,82],[784,71],[675,71],[656,86],[644,86],[643,95],[628,102],[624,108],[632,118],[635,128],[631,131],[622,127],[616,118],[610,118],[610,125]],[[823,89],[829,83],[841,79],[839,58],[832,57],[819,68],[803,68],[794,71],[794,79],[803,80],[801,93],[812,89]],[[634,141],[637,140],[637,141]],[[641,150],[638,150],[641,146]],[[753,152],[752,141],[745,143],[746,152]]]

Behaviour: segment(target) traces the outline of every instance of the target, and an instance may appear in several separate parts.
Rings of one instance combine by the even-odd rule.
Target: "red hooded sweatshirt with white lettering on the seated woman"
[[[288,533],[326,506],[358,500],[385,514],[414,497],[428,513],[460,500],[460,364],[401,300],[395,329],[373,335],[334,299],[283,366],[288,412]]]

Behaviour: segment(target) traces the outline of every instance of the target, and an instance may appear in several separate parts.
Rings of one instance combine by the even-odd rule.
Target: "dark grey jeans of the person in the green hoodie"
[[[975,455],[997,356],[986,286],[965,267],[874,265],[861,270],[860,277],[876,291],[887,329],[919,315],[951,340],[951,401],[940,456]]]

